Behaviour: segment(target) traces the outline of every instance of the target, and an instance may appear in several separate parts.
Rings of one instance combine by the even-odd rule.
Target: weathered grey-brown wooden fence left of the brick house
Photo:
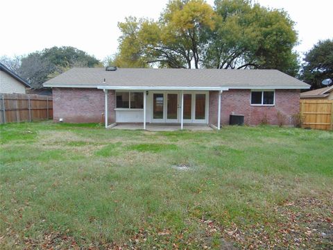
[[[37,94],[0,93],[0,124],[52,118],[52,97]]]

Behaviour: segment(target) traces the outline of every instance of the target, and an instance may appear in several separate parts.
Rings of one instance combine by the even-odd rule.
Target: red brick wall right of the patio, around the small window
[[[244,115],[245,124],[258,125],[263,119],[268,124],[278,124],[278,111],[287,116],[286,124],[291,125],[291,115],[300,111],[300,90],[275,90],[275,106],[251,106],[250,90],[223,91],[221,96],[221,124],[229,124],[229,115]],[[210,124],[216,124],[217,92],[210,93]],[[214,115],[215,114],[215,115]],[[215,117],[215,118],[214,118]]]

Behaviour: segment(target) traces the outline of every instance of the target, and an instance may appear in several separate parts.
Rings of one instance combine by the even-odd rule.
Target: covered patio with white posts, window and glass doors
[[[105,128],[147,131],[219,130],[221,94],[228,88],[121,87],[99,85],[105,97]],[[115,123],[108,124],[108,92],[115,92]],[[216,92],[216,125],[208,126],[210,91]],[[131,124],[132,123],[132,124]],[[115,125],[117,124],[117,125]],[[135,124],[135,125],[133,125]]]

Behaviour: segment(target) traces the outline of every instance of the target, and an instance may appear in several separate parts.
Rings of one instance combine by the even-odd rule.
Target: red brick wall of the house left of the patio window
[[[103,90],[93,88],[53,88],[53,121],[104,122],[105,99]],[[115,120],[114,91],[108,92],[108,122]]]

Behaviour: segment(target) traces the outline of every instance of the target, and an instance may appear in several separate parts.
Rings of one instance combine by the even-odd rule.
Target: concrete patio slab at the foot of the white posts
[[[144,126],[137,124],[117,124],[117,126],[114,126],[111,129],[143,130]],[[178,130],[180,130],[180,125],[146,125],[146,131],[178,131]],[[207,125],[184,126],[184,130],[213,131],[213,129]]]

